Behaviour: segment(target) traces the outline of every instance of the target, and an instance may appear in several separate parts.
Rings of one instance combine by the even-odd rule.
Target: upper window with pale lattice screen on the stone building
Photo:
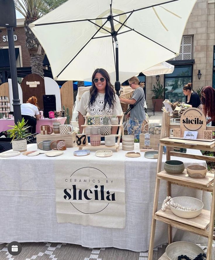
[[[192,36],[183,36],[179,55],[171,60],[191,60],[192,59]]]

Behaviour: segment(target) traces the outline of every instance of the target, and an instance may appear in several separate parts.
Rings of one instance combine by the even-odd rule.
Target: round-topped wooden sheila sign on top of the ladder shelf
[[[181,137],[184,131],[198,131],[197,139],[203,139],[206,130],[206,118],[198,108],[188,108],[181,115],[180,120]]]

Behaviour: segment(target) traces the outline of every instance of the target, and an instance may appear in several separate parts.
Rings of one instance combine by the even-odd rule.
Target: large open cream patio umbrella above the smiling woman
[[[68,0],[30,28],[55,80],[91,81],[94,69],[103,67],[119,91],[119,80],[178,56],[195,2]]]

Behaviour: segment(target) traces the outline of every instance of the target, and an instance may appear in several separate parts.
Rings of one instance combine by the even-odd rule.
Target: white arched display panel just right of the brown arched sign
[[[55,95],[56,110],[61,110],[60,88],[56,81],[51,78],[44,77],[46,95]]]

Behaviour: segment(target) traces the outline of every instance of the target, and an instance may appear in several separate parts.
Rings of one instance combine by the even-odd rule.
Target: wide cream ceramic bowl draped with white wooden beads
[[[198,200],[193,197],[186,197],[186,196],[174,197],[173,200],[175,203],[177,202],[178,204],[180,204],[183,207],[196,209],[193,211],[183,211],[180,209],[175,209],[174,207],[172,207],[170,205],[170,209],[171,209],[172,213],[175,214],[176,216],[184,218],[184,219],[192,219],[192,218],[197,217],[202,212],[202,208],[204,206],[204,204],[201,200]]]

